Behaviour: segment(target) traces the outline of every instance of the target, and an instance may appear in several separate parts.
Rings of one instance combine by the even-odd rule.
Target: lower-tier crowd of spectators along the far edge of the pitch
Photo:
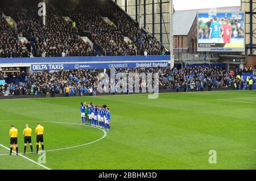
[[[247,71],[247,70],[246,70]],[[253,70],[254,71],[254,70]],[[108,71],[107,71],[108,73]],[[226,71],[218,67],[187,67],[183,69],[170,68],[136,68],[116,69],[115,73],[159,73],[159,90],[193,90],[203,91],[217,87],[233,87],[234,89],[246,89],[246,81],[241,79],[243,70],[235,72]],[[2,85],[0,95],[28,95],[28,94],[67,94],[84,95],[90,93],[96,95],[97,86],[102,79],[98,78],[99,71],[93,70],[60,70],[32,72],[24,76],[22,85]],[[128,78],[127,78],[128,80]],[[140,85],[143,85],[140,79]],[[110,82],[109,82],[110,89]],[[128,89],[127,89],[128,90]]]

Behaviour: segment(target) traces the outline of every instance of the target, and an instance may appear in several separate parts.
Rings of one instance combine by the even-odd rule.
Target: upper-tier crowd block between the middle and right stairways
[[[88,2],[87,6],[67,10],[67,15],[77,22],[81,35],[89,37],[104,56],[136,55],[134,44],[126,43],[122,32],[101,18],[93,1]]]

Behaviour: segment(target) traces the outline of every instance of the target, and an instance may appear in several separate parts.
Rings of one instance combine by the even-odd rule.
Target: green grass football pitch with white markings
[[[106,104],[110,131],[81,125],[80,102]],[[256,91],[0,100],[0,169],[256,169]],[[38,154],[8,155],[9,129],[44,126]],[[216,150],[217,163],[209,163]],[[27,151],[30,147],[27,146]]]

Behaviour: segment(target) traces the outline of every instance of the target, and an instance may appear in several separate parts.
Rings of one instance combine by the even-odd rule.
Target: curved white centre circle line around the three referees
[[[0,120],[0,122],[10,122],[10,120]],[[38,121],[27,121],[27,122],[38,122]],[[60,121],[42,121],[42,123],[63,123],[63,124],[82,125],[82,124],[78,124],[78,123],[69,123],[69,122],[60,122]],[[93,144],[94,142],[98,142],[98,141],[102,140],[102,139],[105,138],[106,135],[107,135],[107,133],[106,133],[106,131],[105,131],[104,129],[97,128],[97,127],[92,127],[92,126],[90,126],[90,125],[82,125],[82,126],[100,129],[102,132],[104,132],[104,136],[102,136],[102,137],[99,138],[98,140],[95,140],[95,141],[92,141],[92,142],[88,142],[88,143],[86,143],[86,144],[77,145],[77,146],[71,146],[71,147],[67,147],[67,148],[59,148],[59,149],[54,149],[54,150],[46,150],[46,152],[49,152],[49,151],[59,151],[59,150],[66,150],[66,149],[77,148],[77,147],[80,147],[80,146],[90,145],[90,144]],[[8,148],[7,148],[7,149],[8,149]],[[0,155],[6,155],[6,154],[0,154]],[[26,158],[27,158],[27,157],[26,157]]]

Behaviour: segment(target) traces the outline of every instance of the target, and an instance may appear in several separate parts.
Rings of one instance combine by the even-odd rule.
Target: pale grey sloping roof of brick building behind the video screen
[[[198,9],[198,10],[182,10],[182,11],[175,11],[173,16],[173,35],[183,35],[187,36],[192,24],[196,18],[197,11],[240,11],[240,6],[234,7],[217,7],[211,9]]]

